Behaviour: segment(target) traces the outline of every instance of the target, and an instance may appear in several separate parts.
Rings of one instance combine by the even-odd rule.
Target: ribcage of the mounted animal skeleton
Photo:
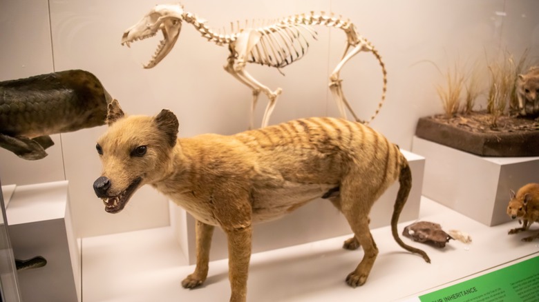
[[[282,24],[258,28],[261,39],[249,53],[250,63],[282,68],[305,55],[309,41],[305,35],[316,39],[316,32],[304,24]]]

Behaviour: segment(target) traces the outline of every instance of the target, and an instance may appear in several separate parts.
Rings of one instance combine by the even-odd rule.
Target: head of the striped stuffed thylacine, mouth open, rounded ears
[[[144,184],[152,184],[172,169],[178,136],[178,119],[169,110],[155,117],[126,117],[113,101],[108,105],[108,131],[95,148],[102,161],[102,174],[93,188],[105,210],[123,210],[133,193]]]

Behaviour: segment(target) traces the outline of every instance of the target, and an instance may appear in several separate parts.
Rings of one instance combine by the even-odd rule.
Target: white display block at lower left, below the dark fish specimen
[[[47,260],[43,268],[18,272],[22,300],[82,301],[81,259],[68,182],[17,186],[6,216],[15,258]]]

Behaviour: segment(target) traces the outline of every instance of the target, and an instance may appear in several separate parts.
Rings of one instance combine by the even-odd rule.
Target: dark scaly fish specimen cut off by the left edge
[[[95,75],[65,70],[0,82],[0,147],[36,160],[50,134],[104,125],[112,99]]]

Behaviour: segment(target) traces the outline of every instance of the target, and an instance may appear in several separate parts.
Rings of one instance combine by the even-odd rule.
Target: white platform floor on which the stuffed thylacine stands
[[[440,223],[446,230],[471,234],[470,245],[450,241],[445,249],[403,240],[422,248],[431,257],[426,263],[393,240],[389,227],[372,231],[378,259],[367,283],[352,289],[345,283],[363,256],[343,250],[348,236],[253,254],[247,301],[395,301],[473,276],[484,270],[539,255],[539,240],[520,241],[528,233],[507,235],[518,223],[487,227],[469,217],[422,198],[419,217]],[[399,231],[411,221],[400,223]],[[532,229],[537,231],[537,225]],[[281,236],[288,236],[292,231]],[[212,261],[201,288],[185,290],[182,279],[193,272],[182,256],[171,228],[112,234],[83,241],[84,302],[115,301],[228,301],[227,260]]]

